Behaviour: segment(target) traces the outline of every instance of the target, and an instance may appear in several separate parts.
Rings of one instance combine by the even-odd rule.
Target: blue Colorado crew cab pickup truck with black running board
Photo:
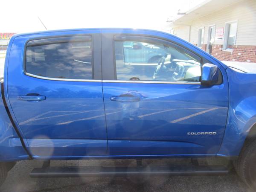
[[[218,156],[256,188],[255,68],[152,30],[14,35],[0,87],[0,183],[19,160],[44,160],[32,177],[225,174],[231,164],[197,161]],[[192,163],[141,163],[169,157]],[[50,166],[113,158],[137,166]]]

